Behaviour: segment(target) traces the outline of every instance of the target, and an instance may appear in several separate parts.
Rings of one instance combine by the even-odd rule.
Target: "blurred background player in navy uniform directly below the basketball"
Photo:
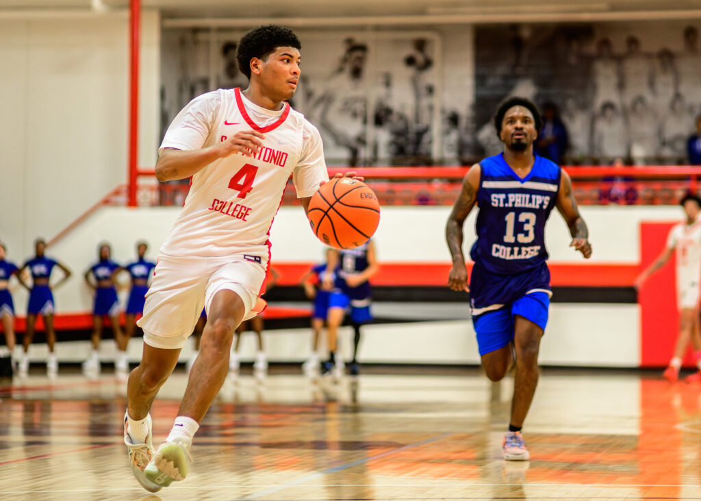
[[[372,302],[372,288],[369,279],[377,273],[375,244],[369,240],[352,249],[336,251],[339,259],[339,276],[341,277],[341,290],[351,300],[351,326],[353,326],[353,360],[351,361],[351,375],[358,375],[358,345],[360,345],[360,326],[372,320],[370,303]]]

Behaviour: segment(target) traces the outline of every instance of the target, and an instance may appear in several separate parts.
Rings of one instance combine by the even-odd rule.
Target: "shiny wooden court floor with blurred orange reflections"
[[[524,427],[531,460],[505,462],[510,381],[493,385],[474,369],[367,372],[228,380],[188,478],[158,495],[128,469],[124,386],[72,374],[49,384],[37,373],[0,389],[0,499],[701,498],[701,385],[545,370]],[[185,384],[177,372],[158,395],[154,443]]]

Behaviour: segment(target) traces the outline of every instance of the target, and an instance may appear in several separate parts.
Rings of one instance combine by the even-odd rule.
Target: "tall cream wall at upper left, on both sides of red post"
[[[142,14],[139,161],[158,143],[160,19]],[[125,182],[129,19],[0,19],[0,240],[27,255]]]

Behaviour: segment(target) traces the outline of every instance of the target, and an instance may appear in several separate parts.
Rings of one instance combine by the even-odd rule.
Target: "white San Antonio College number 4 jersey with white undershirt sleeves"
[[[258,107],[238,88],[219,89],[190,102],[171,123],[161,149],[210,147],[251,129],[264,133],[263,147],[254,156],[238,153],[218,159],[193,175],[161,253],[245,253],[264,264],[269,259],[268,234],[290,176],[300,198],[328,180],[319,133],[304,116],[287,103],[282,112]]]

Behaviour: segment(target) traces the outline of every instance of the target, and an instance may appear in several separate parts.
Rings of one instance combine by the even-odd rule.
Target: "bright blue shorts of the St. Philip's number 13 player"
[[[479,356],[503,348],[514,339],[514,317],[523,316],[545,330],[550,295],[544,291],[526,293],[501,309],[472,317],[477,333]]]

